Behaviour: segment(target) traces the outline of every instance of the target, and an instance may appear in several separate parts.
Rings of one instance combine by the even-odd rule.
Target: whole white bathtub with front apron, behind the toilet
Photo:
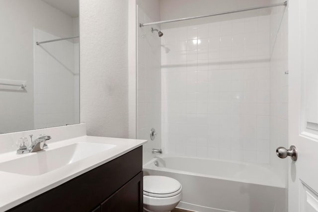
[[[144,173],[178,180],[183,194],[177,206],[180,209],[196,212],[287,211],[286,187],[265,165],[160,155],[144,165]]]

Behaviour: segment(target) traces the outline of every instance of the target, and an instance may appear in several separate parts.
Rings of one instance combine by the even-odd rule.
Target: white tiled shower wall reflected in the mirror
[[[35,41],[57,39],[50,33],[34,29]],[[75,95],[79,86],[79,43],[64,40],[34,44],[34,128],[48,128],[79,123],[79,104]],[[78,61],[78,60],[77,60]],[[77,83],[78,84],[78,83]]]

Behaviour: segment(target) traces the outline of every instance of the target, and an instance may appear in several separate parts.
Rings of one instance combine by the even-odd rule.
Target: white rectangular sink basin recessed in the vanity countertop
[[[77,162],[116,145],[103,143],[74,143],[56,149],[29,153],[25,157],[0,163],[0,171],[23,175],[41,175]]]

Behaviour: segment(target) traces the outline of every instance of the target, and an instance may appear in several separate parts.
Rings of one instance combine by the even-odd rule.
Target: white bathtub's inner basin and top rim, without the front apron
[[[152,162],[154,160],[158,161],[158,167]],[[196,173],[200,176],[286,188],[284,181],[271,171],[269,165],[265,164],[175,155],[160,155],[152,161],[147,163],[145,168],[177,171],[185,174]]]

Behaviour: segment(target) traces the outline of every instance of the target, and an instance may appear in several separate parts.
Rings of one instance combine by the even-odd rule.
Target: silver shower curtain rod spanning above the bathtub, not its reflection
[[[236,10],[230,10],[230,11],[226,11],[226,12],[213,13],[213,14],[209,14],[209,15],[193,16],[193,17],[172,19],[172,20],[166,20],[166,21],[157,21],[157,22],[151,22],[151,23],[140,23],[139,26],[143,27],[143,26],[155,25],[155,24],[160,24],[160,23],[170,23],[170,22],[176,22],[176,21],[191,20],[191,19],[196,19],[196,18],[205,18],[205,17],[210,17],[210,16],[224,15],[224,14],[243,12],[243,11],[249,11],[249,10],[254,10],[254,9],[263,9],[263,8],[269,8],[269,7],[275,7],[275,6],[287,6],[287,1],[284,1],[281,3],[264,5],[264,6],[256,6],[256,7],[249,7],[249,8],[245,8],[245,9],[236,9]]]

